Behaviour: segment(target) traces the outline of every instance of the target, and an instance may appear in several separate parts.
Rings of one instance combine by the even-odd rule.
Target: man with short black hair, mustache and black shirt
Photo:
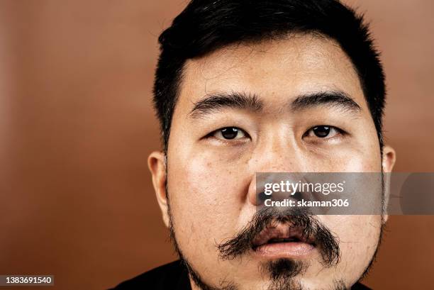
[[[116,289],[366,289],[385,214],[260,211],[256,189],[257,172],[391,172],[362,17],[333,0],[193,0],[159,40],[148,164],[180,261]]]

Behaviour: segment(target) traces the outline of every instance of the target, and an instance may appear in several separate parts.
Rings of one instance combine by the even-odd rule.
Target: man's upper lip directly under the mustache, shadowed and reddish
[[[260,247],[261,245],[265,245],[272,241],[286,242],[286,240],[283,239],[288,239],[288,242],[294,240],[313,244],[311,238],[303,235],[303,230],[301,230],[301,228],[292,227],[289,224],[277,223],[275,225],[269,225],[263,229],[255,239],[253,239],[252,247],[255,249],[256,247]]]

